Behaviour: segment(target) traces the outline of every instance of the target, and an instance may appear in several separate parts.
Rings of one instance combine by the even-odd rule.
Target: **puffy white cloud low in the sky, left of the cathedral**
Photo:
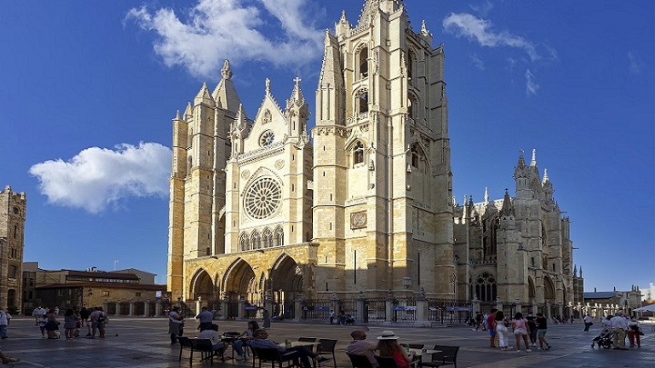
[[[65,162],[33,165],[48,203],[97,214],[128,197],[168,195],[171,150],[161,144],[119,144],[115,150],[91,147]]]

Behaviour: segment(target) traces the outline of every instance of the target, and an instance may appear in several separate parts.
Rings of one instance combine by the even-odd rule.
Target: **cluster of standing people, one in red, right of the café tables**
[[[505,316],[503,311],[496,308],[491,310],[486,319],[486,329],[489,330],[489,346],[492,348],[499,347],[500,350],[509,350],[509,329],[514,333],[516,339],[517,353],[520,353],[520,342],[523,341],[526,353],[532,352],[532,347],[539,347],[537,349],[549,350],[550,344],[546,340],[546,333],[548,332],[548,320],[542,313],[537,313],[537,316],[528,315],[527,318],[523,317],[523,313],[514,314],[513,319]],[[529,340],[529,341],[528,341]]]

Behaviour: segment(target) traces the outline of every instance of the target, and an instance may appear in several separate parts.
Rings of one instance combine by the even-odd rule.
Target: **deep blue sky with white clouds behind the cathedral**
[[[27,194],[25,261],[164,283],[176,110],[225,58],[250,116],[267,77],[278,101],[296,76],[312,95],[324,30],[363,4],[0,2],[0,185]],[[513,193],[519,150],[536,149],[585,289],[655,281],[655,2],[405,4],[445,44],[458,202]]]

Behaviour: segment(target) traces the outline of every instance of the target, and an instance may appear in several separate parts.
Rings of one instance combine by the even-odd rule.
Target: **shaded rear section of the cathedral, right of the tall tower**
[[[550,306],[551,315],[573,315],[583,305],[582,268],[573,264],[569,217],[553,197],[536,152],[526,164],[521,153],[514,170],[516,194],[455,210],[455,260],[459,299],[496,306],[519,303]]]

